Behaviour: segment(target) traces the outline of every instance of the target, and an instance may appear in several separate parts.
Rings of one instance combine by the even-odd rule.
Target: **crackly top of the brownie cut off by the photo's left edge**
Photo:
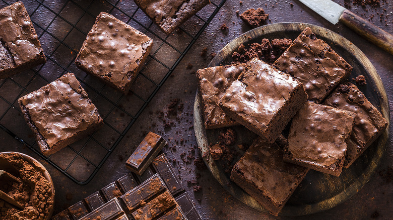
[[[12,53],[16,65],[34,59],[41,45],[22,2],[0,10],[0,39]]]

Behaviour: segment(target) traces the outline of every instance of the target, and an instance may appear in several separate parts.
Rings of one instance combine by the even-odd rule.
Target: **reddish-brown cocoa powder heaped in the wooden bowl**
[[[18,210],[7,202],[0,201],[0,219],[45,220],[53,210],[54,190],[44,171],[18,153],[0,154],[0,169],[21,179],[22,184],[5,181],[0,189],[22,204]]]

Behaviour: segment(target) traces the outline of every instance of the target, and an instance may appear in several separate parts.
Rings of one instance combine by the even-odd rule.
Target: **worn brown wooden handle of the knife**
[[[339,20],[378,47],[393,54],[393,36],[391,34],[383,31],[349,10],[345,10]]]

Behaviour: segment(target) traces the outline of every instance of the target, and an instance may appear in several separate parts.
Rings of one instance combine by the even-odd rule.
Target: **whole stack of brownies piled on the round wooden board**
[[[310,28],[273,66],[254,58],[198,70],[206,129],[240,124],[259,136],[231,179],[270,213],[278,215],[309,169],[339,176],[386,128],[343,82],[351,70]]]

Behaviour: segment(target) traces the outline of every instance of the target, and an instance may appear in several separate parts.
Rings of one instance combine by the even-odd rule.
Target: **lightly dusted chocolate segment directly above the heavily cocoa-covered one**
[[[141,202],[148,201],[164,190],[166,190],[165,183],[157,174],[154,174],[141,185],[120,196],[120,199],[124,202],[127,211],[130,213],[138,208]]]

